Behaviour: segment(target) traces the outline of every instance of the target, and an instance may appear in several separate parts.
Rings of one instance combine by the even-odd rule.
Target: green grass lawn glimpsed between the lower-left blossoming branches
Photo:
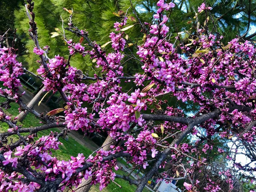
[[[4,102],[4,101],[5,99],[0,97],[0,102]],[[16,103],[11,103],[10,105],[11,105],[11,108],[8,110],[5,110],[5,112],[11,114],[12,118],[14,118],[19,113],[18,111],[19,106]],[[22,125],[24,128],[35,127],[35,126],[41,125],[41,123],[39,122],[40,122],[39,119],[35,118],[35,116],[29,113],[26,116],[26,119],[24,119],[24,121],[22,122]],[[8,126],[6,123],[0,124],[0,133],[7,131],[7,129],[8,129]],[[52,128],[52,129],[40,131],[38,132],[38,137],[41,137],[43,135],[48,135],[50,131],[59,132],[60,130],[58,128]],[[13,136],[13,139],[17,140],[17,136],[16,135]],[[61,143],[63,143],[63,145],[60,146],[60,150],[52,151],[52,154],[60,160],[69,160],[70,156],[76,157],[78,153],[83,153],[85,157],[89,156],[92,153],[90,149],[84,147],[83,145],[78,143],[76,140],[74,140],[72,137],[69,137],[67,141],[60,138],[60,141]],[[116,171],[116,174],[122,175],[123,173],[124,172],[120,170]],[[119,186],[116,185],[115,183],[110,183],[108,187],[103,189],[102,191],[103,192],[134,192],[136,189],[136,186],[135,185],[131,186],[128,183],[128,181],[116,178],[115,182],[118,183],[120,186],[122,186],[122,188],[120,189]],[[99,185],[92,186],[90,189],[90,192],[99,192]],[[148,192],[148,189],[144,189],[143,192]]]

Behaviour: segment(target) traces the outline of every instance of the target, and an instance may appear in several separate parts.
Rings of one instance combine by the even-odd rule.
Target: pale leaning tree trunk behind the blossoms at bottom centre
[[[113,138],[108,136],[106,138],[106,140],[104,141],[104,143],[102,144],[102,146],[104,146],[102,149],[104,151],[109,151],[110,145],[111,145],[111,141],[113,141]],[[89,192],[90,188],[91,188],[91,181],[92,178],[89,177],[87,180],[83,179],[82,183],[78,186],[78,188],[76,189],[76,192]]]

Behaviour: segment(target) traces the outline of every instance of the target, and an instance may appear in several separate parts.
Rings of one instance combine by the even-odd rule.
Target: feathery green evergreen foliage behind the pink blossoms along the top
[[[5,1],[5,0],[4,0]],[[12,0],[14,1],[14,0]],[[151,23],[152,15],[157,10],[156,3],[158,0],[132,0],[137,14],[143,22]],[[236,35],[243,35],[249,31],[251,26],[256,22],[256,0],[207,0],[207,6],[212,7],[212,18],[215,20],[218,32],[225,37],[225,41],[230,41]],[[7,2],[7,1],[6,1]],[[177,32],[195,31],[195,12],[198,12],[197,7],[204,1],[202,0],[177,0],[175,8],[169,12],[169,22],[171,38],[174,39]],[[17,3],[17,2],[16,2]],[[20,7],[15,11],[15,27],[21,41],[25,44],[26,54],[23,60],[28,64],[29,69],[34,71],[37,69],[35,61],[37,55],[33,54],[33,43],[28,40],[27,29],[28,19],[23,6],[24,2],[20,3]],[[14,7],[14,6],[13,6]],[[64,19],[64,24],[67,25],[69,13],[62,8],[73,9],[73,22],[79,29],[86,29],[89,32],[90,38],[98,44],[104,44],[109,41],[109,33],[114,31],[113,23],[120,20],[120,17],[113,15],[113,12],[119,10],[132,13],[130,0],[36,0],[35,13],[36,22],[38,23],[38,34],[41,45],[51,47],[49,56],[53,57],[56,54],[63,56],[68,55],[67,47],[60,36],[50,38],[51,32],[55,32],[55,28],[61,29],[61,18]],[[195,10],[195,11],[194,11]],[[199,14],[199,20],[203,25],[206,16]],[[10,21],[12,22],[12,21]],[[130,23],[129,23],[130,22]],[[154,21],[153,21],[154,23]],[[209,22],[209,29],[212,29],[212,22]],[[134,24],[128,21],[129,24]],[[140,26],[135,25],[133,28],[126,31],[132,41],[139,44],[142,41],[143,34],[140,33]],[[66,33],[67,38],[73,38],[78,41],[74,35]],[[183,41],[187,41],[186,36],[183,36]],[[108,45],[106,48],[109,48]],[[133,47],[131,47],[133,49]],[[133,49],[135,52],[136,50]],[[88,57],[76,57],[72,59],[71,64],[79,67],[84,72],[89,71],[94,73],[96,70],[93,67]],[[132,66],[127,70],[140,70],[138,63],[137,67]],[[98,70],[99,71],[99,70]]]

